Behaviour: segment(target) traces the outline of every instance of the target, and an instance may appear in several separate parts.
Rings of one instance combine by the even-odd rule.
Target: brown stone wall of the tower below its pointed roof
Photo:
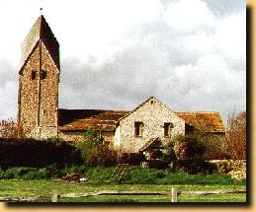
[[[42,70],[45,79],[40,77]],[[27,137],[57,136],[58,78],[59,70],[39,42],[20,72],[18,121]]]

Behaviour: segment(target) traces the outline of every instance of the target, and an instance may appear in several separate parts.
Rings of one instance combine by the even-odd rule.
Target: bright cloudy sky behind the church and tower
[[[244,0],[0,3],[0,120],[16,118],[21,42],[43,5],[60,43],[59,107],[246,109]]]

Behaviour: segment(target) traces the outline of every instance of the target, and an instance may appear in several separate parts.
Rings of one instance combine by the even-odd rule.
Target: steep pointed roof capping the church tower
[[[51,32],[48,24],[46,23],[43,15],[41,15],[31,31],[25,37],[22,42],[22,53],[21,53],[21,69],[27,62],[30,54],[38,42],[42,40],[43,44],[47,48],[50,56],[52,57],[55,65],[59,68],[59,43],[56,37]]]

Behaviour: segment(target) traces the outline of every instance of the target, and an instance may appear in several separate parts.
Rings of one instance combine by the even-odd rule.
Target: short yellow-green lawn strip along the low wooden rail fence
[[[189,195],[188,191],[211,191],[211,190],[245,190],[245,184],[115,184],[115,183],[79,183],[60,182],[55,179],[1,179],[0,197],[24,197],[37,198],[40,202],[50,202],[54,190],[60,195],[66,193],[86,193],[101,190],[119,191],[166,191],[171,193],[172,187],[176,186],[179,202],[246,202],[245,193]],[[61,202],[171,202],[170,196],[144,196],[144,195],[115,195],[115,196],[90,196],[82,198],[61,198]]]

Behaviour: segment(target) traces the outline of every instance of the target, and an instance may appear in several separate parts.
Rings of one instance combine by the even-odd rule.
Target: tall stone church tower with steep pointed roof
[[[41,15],[22,42],[18,124],[27,137],[57,136],[59,43]]]

